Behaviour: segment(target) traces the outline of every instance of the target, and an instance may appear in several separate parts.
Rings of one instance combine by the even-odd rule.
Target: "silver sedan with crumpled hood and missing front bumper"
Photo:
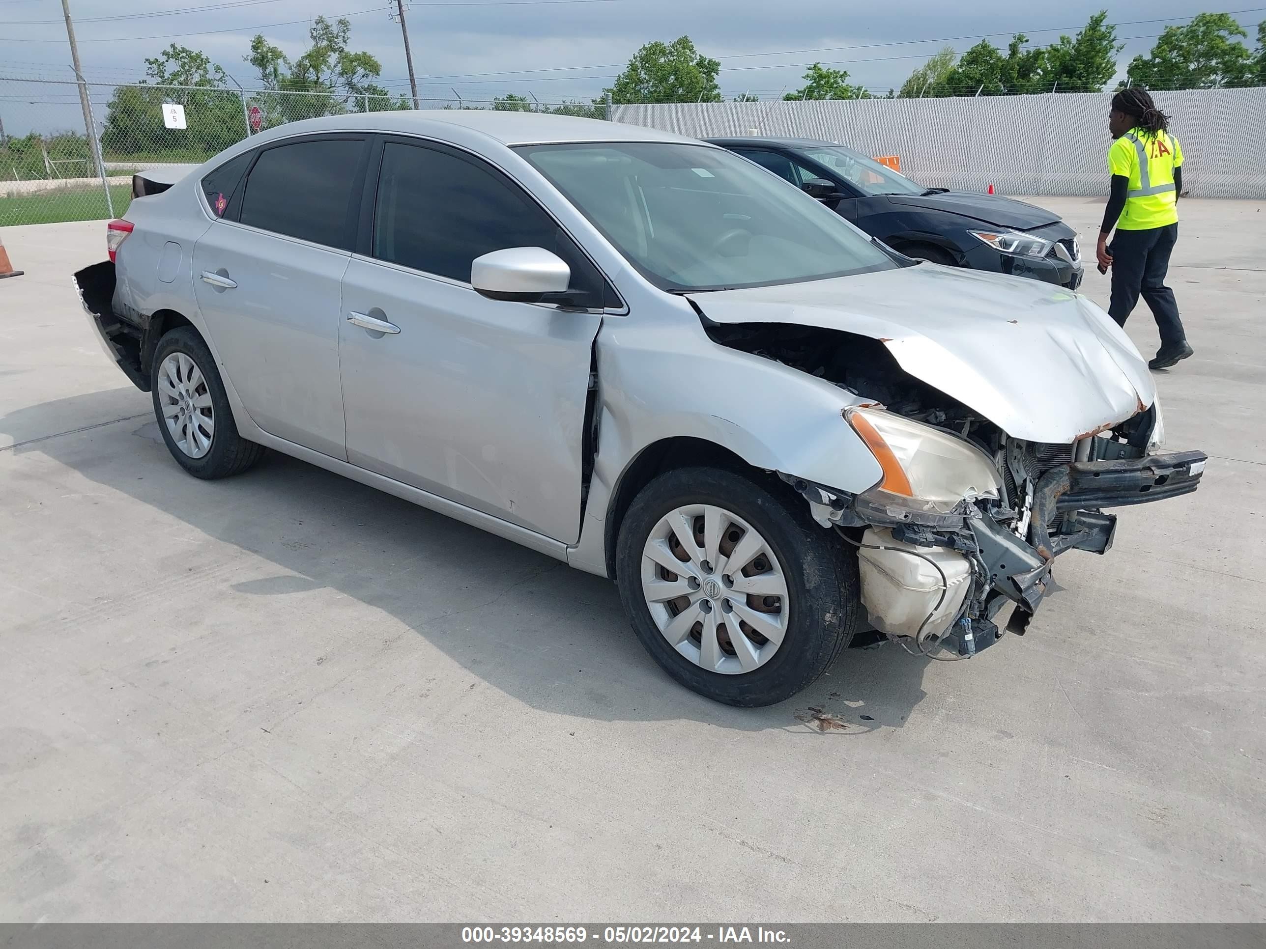
[[[1094,304],[908,259],[700,142],[343,115],[134,192],[76,280],[185,471],[271,448],[610,577],[723,702],[865,630],[948,659],[1023,633],[1105,507],[1204,467],[1155,452]]]

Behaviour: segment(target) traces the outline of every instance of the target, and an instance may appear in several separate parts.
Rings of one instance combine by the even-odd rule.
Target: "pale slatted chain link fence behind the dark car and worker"
[[[1266,199],[1266,87],[1153,91],[1195,197]],[[611,119],[693,138],[794,135],[898,156],[920,183],[1010,195],[1103,196],[1105,92],[946,99],[617,105]]]

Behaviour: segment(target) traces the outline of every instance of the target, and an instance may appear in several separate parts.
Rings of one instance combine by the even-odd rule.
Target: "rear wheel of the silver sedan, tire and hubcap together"
[[[149,381],[167,450],[194,477],[237,475],[263,456],[263,445],[238,434],[215,359],[192,326],[158,340]]]

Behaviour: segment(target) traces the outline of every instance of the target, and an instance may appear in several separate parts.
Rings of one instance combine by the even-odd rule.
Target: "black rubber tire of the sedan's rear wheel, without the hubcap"
[[[172,353],[184,353],[194,361],[205,382],[206,394],[211,397],[215,426],[211,431],[210,448],[200,458],[186,454],[180,443],[172,438],[167,420],[163,418],[158,371],[163,359]],[[215,367],[215,358],[192,326],[177,326],[158,340],[149,367],[149,380],[154,418],[158,419],[158,430],[162,433],[163,442],[167,443],[167,450],[171,452],[171,457],[180,467],[195,478],[211,480],[238,475],[263,457],[263,445],[247,442],[238,434],[237,424],[233,421],[233,410],[229,407],[228,395],[224,392],[224,382],[220,381],[219,369]]]

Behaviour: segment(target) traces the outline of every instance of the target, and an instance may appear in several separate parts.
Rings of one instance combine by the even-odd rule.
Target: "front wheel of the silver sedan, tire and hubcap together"
[[[818,678],[857,629],[857,564],[808,506],[718,468],[661,475],[620,525],[633,630],[689,688],[772,705]]]

